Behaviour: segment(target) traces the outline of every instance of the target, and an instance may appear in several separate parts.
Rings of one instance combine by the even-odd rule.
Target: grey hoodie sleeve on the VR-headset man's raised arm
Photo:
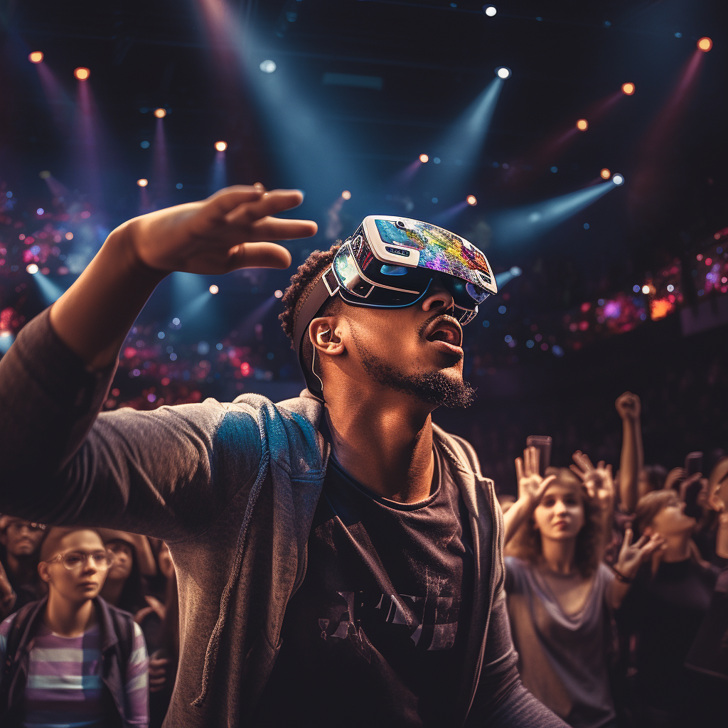
[[[0,512],[170,541],[205,529],[256,477],[255,413],[205,400],[99,414],[115,366],[88,371],[49,310],[0,360]]]

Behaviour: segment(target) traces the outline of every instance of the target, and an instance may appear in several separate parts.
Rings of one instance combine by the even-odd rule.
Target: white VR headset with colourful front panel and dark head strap
[[[478,315],[478,304],[498,293],[486,256],[459,235],[411,218],[365,217],[341,244],[298,314],[293,346],[309,392],[323,400],[323,384],[306,363],[306,349],[313,348],[309,324],[329,298],[340,296],[349,306],[405,308],[427,294],[435,277],[451,293],[454,316],[462,325]]]

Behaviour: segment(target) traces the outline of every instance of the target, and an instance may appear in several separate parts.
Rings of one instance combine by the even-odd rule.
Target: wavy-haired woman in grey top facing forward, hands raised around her
[[[519,497],[505,514],[506,593],[523,684],[576,728],[617,725],[609,686],[611,612],[637,569],[662,543],[632,543],[601,561],[612,518],[612,468],[577,451],[578,467],[538,472],[538,452],[515,461]],[[573,471],[573,472],[572,472]]]

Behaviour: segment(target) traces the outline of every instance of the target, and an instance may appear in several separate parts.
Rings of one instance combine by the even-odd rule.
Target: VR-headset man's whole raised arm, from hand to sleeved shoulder
[[[231,188],[143,215],[109,236],[50,314],[23,328],[0,360],[0,510],[149,533],[145,524],[157,523],[159,535],[196,501],[200,521],[212,513],[215,498],[204,488],[222,405],[97,415],[116,352],[156,282],[175,269],[288,264],[288,251],[258,241],[312,234],[314,223],[269,217],[300,201],[296,191]],[[260,450],[259,435],[257,445],[245,440],[250,414],[225,422],[234,430],[227,442],[241,437],[251,455]]]

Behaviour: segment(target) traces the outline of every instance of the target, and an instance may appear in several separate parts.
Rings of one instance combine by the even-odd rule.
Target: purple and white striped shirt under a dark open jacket
[[[15,615],[0,625],[0,664]],[[78,637],[61,637],[43,622],[33,638],[25,683],[25,728],[102,728],[101,631],[98,625]],[[128,724],[149,725],[149,659],[144,636],[134,623],[132,654],[124,680]]]

